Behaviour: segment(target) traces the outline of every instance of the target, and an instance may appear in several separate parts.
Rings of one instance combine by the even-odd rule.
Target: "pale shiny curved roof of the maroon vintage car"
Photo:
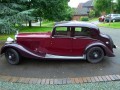
[[[55,24],[55,27],[66,27],[66,26],[88,27],[99,30],[99,28],[95,24],[89,22],[83,22],[83,21],[65,21],[65,22],[57,22]]]

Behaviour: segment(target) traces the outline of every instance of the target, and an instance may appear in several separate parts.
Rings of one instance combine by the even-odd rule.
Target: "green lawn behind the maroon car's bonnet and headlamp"
[[[52,27],[24,27],[19,32],[48,32],[52,31]],[[0,41],[6,41],[8,37],[14,38],[15,34],[0,35]]]

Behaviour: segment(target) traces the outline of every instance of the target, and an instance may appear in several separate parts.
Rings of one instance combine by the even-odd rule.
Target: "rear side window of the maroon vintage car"
[[[76,27],[74,36],[90,36],[90,29],[86,27]]]

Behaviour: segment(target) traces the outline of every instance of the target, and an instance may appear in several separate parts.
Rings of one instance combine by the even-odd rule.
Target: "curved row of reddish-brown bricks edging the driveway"
[[[95,83],[95,82],[120,81],[120,75],[105,75],[105,76],[60,78],[60,79],[25,78],[25,77],[0,75],[0,81],[12,82],[12,83],[24,83],[24,84],[65,85],[65,84],[83,84],[83,83]]]

